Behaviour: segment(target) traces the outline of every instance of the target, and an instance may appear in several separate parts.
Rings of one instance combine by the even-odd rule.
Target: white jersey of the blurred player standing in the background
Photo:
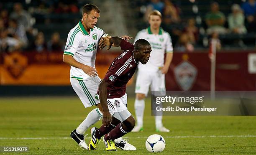
[[[158,71],[159,67],[164,66],[164,53],[172,53],[172,39],[168,32],[165,32],[162,28],[159,29],[157,35],[153,34],[150,27],[139,31],[134,39],[134,43],[138,39],[147,40],[152,48],[148,63],[142,65],[138,64],[138,69],[146,71]]]

